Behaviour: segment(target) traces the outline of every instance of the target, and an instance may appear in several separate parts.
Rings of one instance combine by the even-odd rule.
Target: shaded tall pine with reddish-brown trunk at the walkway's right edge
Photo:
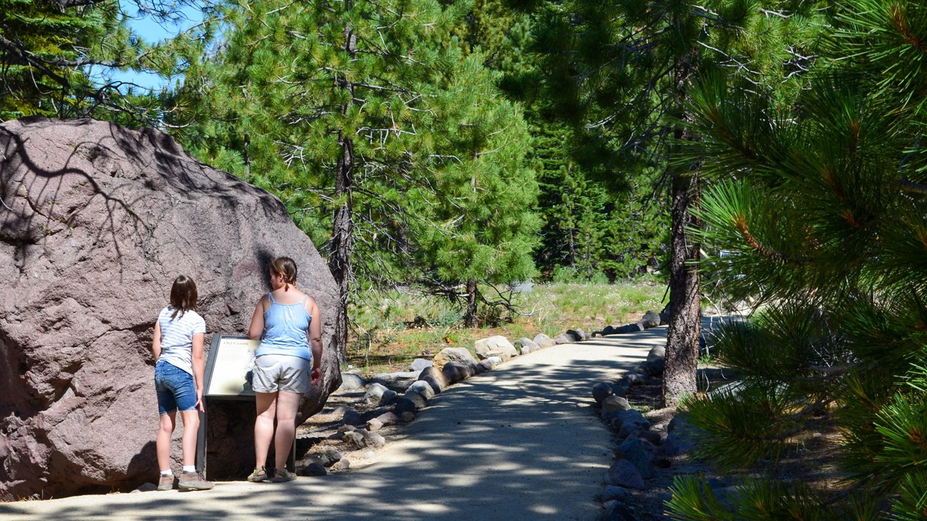
[[[686,90],[698,69],[700,19],[694,6],[676,2],[551,3],[536,29],[537,49],[555,109],[579,130],[584,144],[576,156],[593,175],[620,175],[640,163],[664,166],[672,151],[667,136],[681,127]],[[685,168],[667,168],[672,179],[672,251],[664,399],[674,403],[694,392],[699,336],[697,245],[687,243],[685,228],[692,197],[692,176]],[[598,172],[596,172],[598,171]]]

